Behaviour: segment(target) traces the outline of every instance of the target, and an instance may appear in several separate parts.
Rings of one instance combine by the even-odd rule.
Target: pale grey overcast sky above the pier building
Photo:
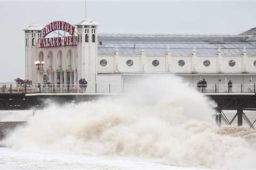
[[[238,34],[256,27],[256,2],[88,1],[104,33]],[[83,1],[0,0],[0,82],[25,78],[25,33],[31,23],[85,18]]]

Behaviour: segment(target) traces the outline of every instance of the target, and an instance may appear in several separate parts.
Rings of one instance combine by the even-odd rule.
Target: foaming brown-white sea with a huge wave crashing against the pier
[[[54,103],[0,142],[0,168],[256,168],[256,133],[218,129],[215,104],[177,77],[62,107]]]

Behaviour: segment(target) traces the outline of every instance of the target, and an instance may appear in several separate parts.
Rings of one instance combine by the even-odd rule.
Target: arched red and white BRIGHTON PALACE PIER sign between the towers
[[[71,36],[45,38],[49,33],[62,30]],[[76,46],[77,36],[73,36],[75,27],[65,21],[51,22],[42,29],[43,38],[38,39],[39,47]]]

